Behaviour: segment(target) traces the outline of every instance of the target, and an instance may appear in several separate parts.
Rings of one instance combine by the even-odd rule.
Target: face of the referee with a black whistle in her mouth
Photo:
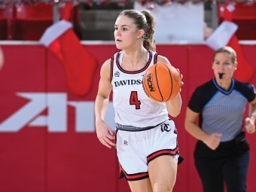
[[[230,53],[217,53],[212,63],[212,69],[215,74],[215,78],[231,79],[233,72],[236,70],[236,63],[232,62]]]

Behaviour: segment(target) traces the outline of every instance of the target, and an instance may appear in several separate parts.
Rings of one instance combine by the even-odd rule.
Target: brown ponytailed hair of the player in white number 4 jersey
[[[136,9],[124,10],[120,12],[119,16],[124,15],[133,19],[137,29],[143,29],[145,34],[143,35],[143,46],[147,50],[156,51],[156,44],[153,37],[155,20],[151,11],[142,10],[137,11]]]

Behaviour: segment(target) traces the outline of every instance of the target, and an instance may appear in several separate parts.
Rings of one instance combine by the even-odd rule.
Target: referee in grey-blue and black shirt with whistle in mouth
[[[188,103],[185,129],[198,139],[194,160],[204,192],[245,192],[249,146],[243,126],[255,132],[256,97],[252,84],[233,79],[237,67],[231,47],[215,51],[215,78],[197,87]],[[249,117],[243,116],[249,103]],[[199,124],[197,125],[197,118]]]

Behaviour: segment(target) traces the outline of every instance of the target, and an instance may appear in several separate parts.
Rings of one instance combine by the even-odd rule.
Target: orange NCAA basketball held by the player
[[[156,63],[143,75],[142,86],[146,95],[154,101],[169,101],[181,88],[180,73],[170,64]]]

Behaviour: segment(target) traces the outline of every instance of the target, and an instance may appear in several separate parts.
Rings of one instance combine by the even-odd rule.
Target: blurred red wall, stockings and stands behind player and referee
[[[203,191],[184,111],[195,87],[213,78],[207,42],[224,21],[236,29],[215,38],[238,53],[236,78],[256,85],[254,0],[0,0],[0,192],[130,191],[118,178],[115,149],[96,137],[94,100],[100,67],[118,51],[114,22],[132,8],[153,12],[157,53],[184,76],[183,106],[174,118],[184,162],[173,191]],[[111,102],[105,121],[114,130]],[[248,192],[256,191],[254,137],[246,135]]]

